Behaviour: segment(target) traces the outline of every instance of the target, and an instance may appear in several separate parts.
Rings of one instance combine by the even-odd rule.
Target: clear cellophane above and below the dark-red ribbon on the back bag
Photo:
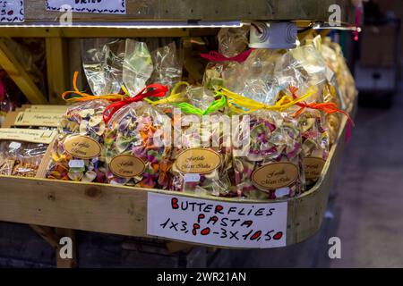
[[[219,53],[227,57],[233,57],[244,52],[248,46],[247,33],[249,29],[221,28],[219,30]],[[225,86],[223,72],[235,69],[240,63],[234,61],[210,62],[206,66],[203,76],[203,86],[214,89]]]

